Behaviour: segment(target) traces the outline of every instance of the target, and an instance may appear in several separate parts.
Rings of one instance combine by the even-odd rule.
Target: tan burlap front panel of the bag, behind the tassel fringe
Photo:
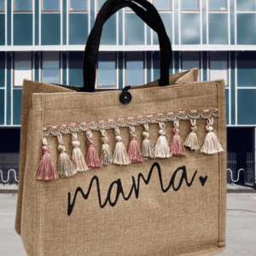
[[[214,118],[213,128],[225,148],[223,94],[222,81],[131,90],[132,102],[127,106],[119,103],[117,91],[43,94],[40,95],[43,96],[44,106],[42,134],[45,125],[180,109],[218,108],[219,117]],[[37,102],[38,97],[34,94],[33,101]],[[197,119],[196,125],[198,140],[202,143],[207,134],[206,119]],[[180,120],[180,137],[183,140],[189,134],[189,128],[189,119]],[[167,121],[168,143],[172,141],[172,129],[173,123]],[[119,130],[127,149],[129,130],[127,127]],[[152,143],[158,139],[159,130],[159,125],[149,124]],[[113,129],[107,132],[108,144],[113,152],[115,134]],[[101,133],[92,133],[94,147],[100,154]],[[143,125],[137,125],[139,145],[143,143],[142,133]],[[78,135],[79,148],[85,156],[85,132]],[[35,160],[38,162],[42,156],[41,138],[37,131]],[[63,135],[63,143],[67,154],[72,155],[71,134]],[[57,169],[57,138],[48,137],[48,145]],[[121,167],[111,164],[79,172],[73,177],[50,182],[37,181],[40,188],[38,206],[41,205],[40,209],[43,210],[39,219],[44,220],[44,225],[38,230],[44,234],[44,254],[38,255],[182,255],[199,251],[218,252],[218,247],[224,246],[220,246],[220,242],[223,242],[225,224],[224,189],[220,188],[221,182],[224,184],[225,153],[221,154],[208,155],[186,149],[183,158],[173,156],[169,159],[144,160],[141,164]],[[143,177],[148,179],[148,184],[145,184]],[[180,188],[177,189],[179,184]],[[72,207],[76,191],[77,197]],[[89,195],[86,200],[82,191],[85,198],[86,194]]]

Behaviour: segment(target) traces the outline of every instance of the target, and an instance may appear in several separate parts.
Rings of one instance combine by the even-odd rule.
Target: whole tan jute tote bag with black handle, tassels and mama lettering
[[[158,33],[160,79],[95,90],[102,26],[123,7]],[[15,230],[28,255],[224,250],[224,80],[169,76],[171,57],[151,3],[108,0],[85,47],[84,87],[24,80]]]

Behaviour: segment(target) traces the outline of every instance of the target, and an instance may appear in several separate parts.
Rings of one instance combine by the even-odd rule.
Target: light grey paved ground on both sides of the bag
[[[0,194],[0,256],[26,256],[15,232],[16,202],[17,195]],[[226,249],[218,255],[256,255],[256,194],[227,196],[226,241]]]

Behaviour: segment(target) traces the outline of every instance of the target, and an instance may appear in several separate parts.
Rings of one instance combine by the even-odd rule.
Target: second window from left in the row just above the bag
[[[60,52],[44,51],[42,55],[42,82],[60,84]]]

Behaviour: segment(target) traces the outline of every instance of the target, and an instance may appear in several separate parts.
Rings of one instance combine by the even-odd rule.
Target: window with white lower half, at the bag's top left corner
[[[32,52],[15,51],[14,53],[14,87],[22,86],[23,79],[32,80]]]

